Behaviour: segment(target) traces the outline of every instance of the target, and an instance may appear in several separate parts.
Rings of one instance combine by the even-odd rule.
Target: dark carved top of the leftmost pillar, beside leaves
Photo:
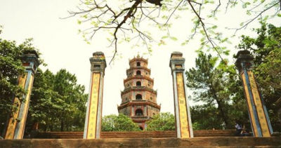
[[[32,70],[33,73],[37,71],[37,67],[39,67],[39,55],[37,51],[24,51],[21,56],[22,65],[25,66],[25,69]]]

